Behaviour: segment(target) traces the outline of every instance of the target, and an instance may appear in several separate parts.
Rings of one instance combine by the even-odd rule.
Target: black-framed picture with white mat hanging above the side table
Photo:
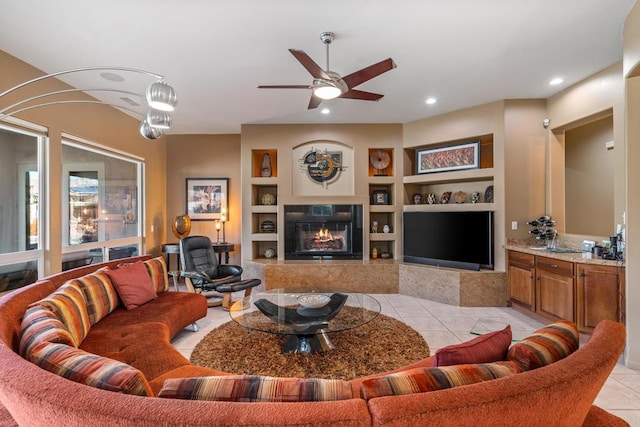
[[[229,178],[187,178],[186,181],[186,210],[191,221],[229,220]]]

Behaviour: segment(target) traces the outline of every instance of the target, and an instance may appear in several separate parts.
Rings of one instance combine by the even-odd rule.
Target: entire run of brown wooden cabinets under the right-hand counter
[[[571,320],[582,333],[624,323],[624,267],[509,250],[507,280],[512,307],[540,321]]]

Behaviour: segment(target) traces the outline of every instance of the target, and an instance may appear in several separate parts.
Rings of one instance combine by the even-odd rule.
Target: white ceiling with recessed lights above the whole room
[[[249,123],[406,123],[510,98],[546,98],[622,59],[633,0],[0,0],[0,49],[51,73],[95,65],[162,74],[178,93],[168,134],[239,133]],[[307,110],[310,84],[288,52],[344,75],[393,58],[358,86],[379,102]],[[1,65],[1,64],[0,64]],[[123,74],[118,88],[150,83]],[[565,83],[550,86],[551,78]],[[77,87],[104,87],[75,74]],[[131,85],[131,86],[127,86]],[[92,93],[112,102],[108,95]],[[425,99],[434,96],[435,105]],[[85,107],[86,108],[86,107]]]

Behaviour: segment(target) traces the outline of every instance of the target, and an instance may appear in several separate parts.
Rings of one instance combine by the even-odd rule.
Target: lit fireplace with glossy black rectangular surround
[[[362,205],[285,205],[285,259],[362,259]]]

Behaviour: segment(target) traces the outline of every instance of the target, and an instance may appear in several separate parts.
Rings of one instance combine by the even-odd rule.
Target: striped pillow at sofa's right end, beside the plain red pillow
[[[576,324],[562,320],[538,329],[511,346],[507,358],[528,371],[567,357],[578,349],[579,343]]]

